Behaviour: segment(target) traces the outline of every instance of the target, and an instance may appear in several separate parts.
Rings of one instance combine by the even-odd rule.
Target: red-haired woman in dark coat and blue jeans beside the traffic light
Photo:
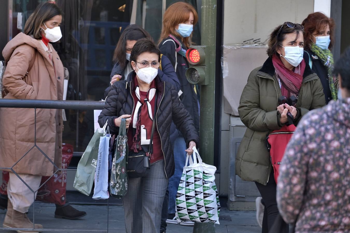
[[[168,7],[163,17],[163,27],[159,40],[159,49],[162,54],[166,55],[173,67],[175,68],[177,77],[180,81],[180,91],[178,95],[184,105],[184,108],[189,111],[197,132],[199,131],[199,103],[195,85],[190,84],[186,78],[186,70],[188,62],[186,59],[186,50],[192,44],[191,37],[193,27],[198,22],[198,14],[195,8],[186,2],[176,2]],[[199,93],[198,93],[199,94]],[[164,211],[162,216],[161,233],[166,231],[166,223],[175,223],[175,207],[176,193],[179,187],[182,169],[185,166],[186,143],[183,135],[177,137],[174,144],[175,155],[175,173],[169,179],[169,203],[167,198],[164,202]],[[168,207],[167,207],[168,206]],[[168,209],[168,211],[167,211]],[[167,216],[168,215],[168,216]],[[166,223],[164,222],[166,220]],[[181,225],[193,226],[192,221],[181,223]]]

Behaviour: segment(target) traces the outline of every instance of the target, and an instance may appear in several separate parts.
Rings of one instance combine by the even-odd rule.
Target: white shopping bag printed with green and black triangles
[[[193,151],[193,160],[191,155],[187,155],[177,190],[177,222],[191,220],[219,224],[220,203],[215,185],[216,167],[203,163],[196,147],[193,147]]]

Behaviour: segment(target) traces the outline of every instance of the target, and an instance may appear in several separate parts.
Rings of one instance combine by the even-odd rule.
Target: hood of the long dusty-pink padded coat
[[[8,62],[10,60],[10,57],[13,53],[13,51],[20,45],[27,44],[39,51],[43,56],[46,54],[44,48],[40,44],[40,41],[37,39],[34,39],[31,36],[28,36],[24,34],[23,32],[20,32],[18,35],[16,35],[12,40],[10,40],[5,48],[2,50],[2,56],[5,58],[5,61]]]

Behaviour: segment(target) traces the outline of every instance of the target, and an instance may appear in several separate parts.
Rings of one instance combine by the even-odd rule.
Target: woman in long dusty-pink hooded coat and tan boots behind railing
[[[3,49],[2,55],[7,62],[2,80],[4,99],[62,100],[63,65],[50,43],[62,37],[59,25],[63,12],[52,3],[39,4],[29,16],[24,33],[16,35]],[[18,161],[13,170],[32,190],[39,188],[42,176],[51,176],[57,168],[62,168],[62,110],[0,108],[0,129],[0,167],[12,167]],[[25,183],[9,170],[3,227],[33,228],[26,212],[37,193],[33,195]],[[75,217],[86,214],[67,204],[56,206],[55,217],[65,217],[67,212],[77,215]],[[41,224],[34,227],[43,228]]]

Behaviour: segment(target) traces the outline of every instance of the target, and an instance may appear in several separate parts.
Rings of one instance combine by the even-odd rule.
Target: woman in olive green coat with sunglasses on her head
[[[247,126],[236,155],[236,173],[254,181],[264,201],[262,233],[267,233],[278,216],[276,182],[265,138],[287,123],[290,112],[297,124],[309,110],[325,105],[320,79],[303,60],[303,26],[285,22],[276,27],[268,43],[268,58],[249,75],[238,112]],[[281,96],[297,98],[294,106],[278,105]],[[283,223],[285,232],[288,224]]]

